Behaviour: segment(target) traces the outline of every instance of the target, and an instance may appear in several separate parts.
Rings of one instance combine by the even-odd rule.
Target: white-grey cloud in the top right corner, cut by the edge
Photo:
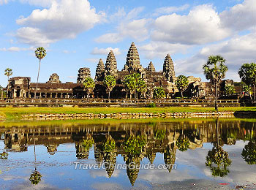
[[[256,1],[244,0],[242,4],[236,4],[219,14],[222,26],[243,31],[256,28]]]

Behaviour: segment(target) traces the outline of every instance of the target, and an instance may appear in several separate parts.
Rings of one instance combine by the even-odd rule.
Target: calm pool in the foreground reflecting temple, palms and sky
[[[256,189],[256,120],[0,123],[0,189]]]

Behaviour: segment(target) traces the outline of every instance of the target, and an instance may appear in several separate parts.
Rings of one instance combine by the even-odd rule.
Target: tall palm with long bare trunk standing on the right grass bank
[[[210,80],[211,84],[215,86],[215,110],[218,111],[218,85],[223,78],[225,78],[227,72],[227,66],[225,65],[225,58],[222,56],[209,56],[208,61],[203,65],[203,71],[206,75],[206,79]]]

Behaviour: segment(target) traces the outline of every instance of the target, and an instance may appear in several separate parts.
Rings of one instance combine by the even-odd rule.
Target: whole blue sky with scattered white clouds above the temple
[[[203,64],[221,55],[226,78],[240,81],[241,64],[256,62],[256,0],[0,0],[0,85],[7,67],[36,82],[37,47],[47,50],[39,82],[57,73],[65,83],[80,67],[94,77],[110,50],[121,70],[132,42],[144,67],[161,71],[169,53],[177,76],[206,81]]]

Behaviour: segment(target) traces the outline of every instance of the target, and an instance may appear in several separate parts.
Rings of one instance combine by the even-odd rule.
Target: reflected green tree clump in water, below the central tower
[[[139,154],[142,148],[146,145],[146,137],[144,136],[131,136],[124,141],[124,151],[132,154]]]

